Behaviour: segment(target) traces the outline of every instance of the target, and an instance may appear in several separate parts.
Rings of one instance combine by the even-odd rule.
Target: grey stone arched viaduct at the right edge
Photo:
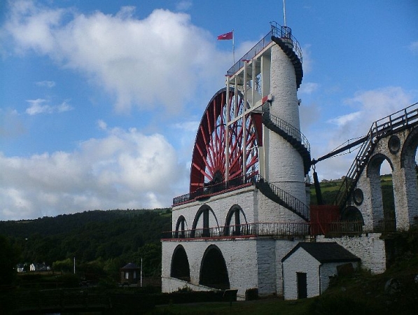
[[[356,188],[363,192],[363,202],[356,203],[352,197],[349,200],[349,204],[361,211],[365,230],[380,228],[381,221],[384,220],[379,177],[384,160],[391,166],[396,228],[409,230],[412,225],[418,223],[418,187],[415,170],[417,145],[417,128],[397,132],[377,142],[368,165],[356,184]]]

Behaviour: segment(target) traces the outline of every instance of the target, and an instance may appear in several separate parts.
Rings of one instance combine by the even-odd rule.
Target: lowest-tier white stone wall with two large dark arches
[[[176,246],[183,246],[190,265],[190,288],[199,285],[204,252],[216,245],[225,259],[230,288],[237,288],[237,296],[245,297],[249,288],[258,288],[258,294],[282,295],[281,259],[299,241],[304,239],[197,239],[193,241],[162,241],[162,292],[173,292],[188,282],[171,279],[172,255]],[[205,290],[205,287],[199,288]]]

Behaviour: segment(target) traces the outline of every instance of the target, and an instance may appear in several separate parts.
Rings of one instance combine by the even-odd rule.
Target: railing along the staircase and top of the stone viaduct
[[[366,136],[366,140],[361,145],[354,162],[351,164],[351,167],[344,178],[344,181],[342,181],[340,190],[338,190],[335,197],[334,204],[344,207],[344,204],[347,203],[351,191],[356,186],[358,178],[367,164],[375,144],[380,138],[417,124],[418,103],[407,106],[405,109],[397,111],[396,113],[376,120],[375,123],[372,123],[368,135]]]

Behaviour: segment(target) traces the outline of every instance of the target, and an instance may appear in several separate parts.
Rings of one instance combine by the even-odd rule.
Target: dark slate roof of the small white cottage
[[[321,263],[324,262],[353,262],[360,261],[356,255],[350,253],[344,247],[337,244],[335,241],[328,243],[312,243],[312,242],[300,242],[291,251],[288,252],[281,262],[284,262],[289,258],[298,248],[303,248],[307,253],[312,255],[313,258]]]

